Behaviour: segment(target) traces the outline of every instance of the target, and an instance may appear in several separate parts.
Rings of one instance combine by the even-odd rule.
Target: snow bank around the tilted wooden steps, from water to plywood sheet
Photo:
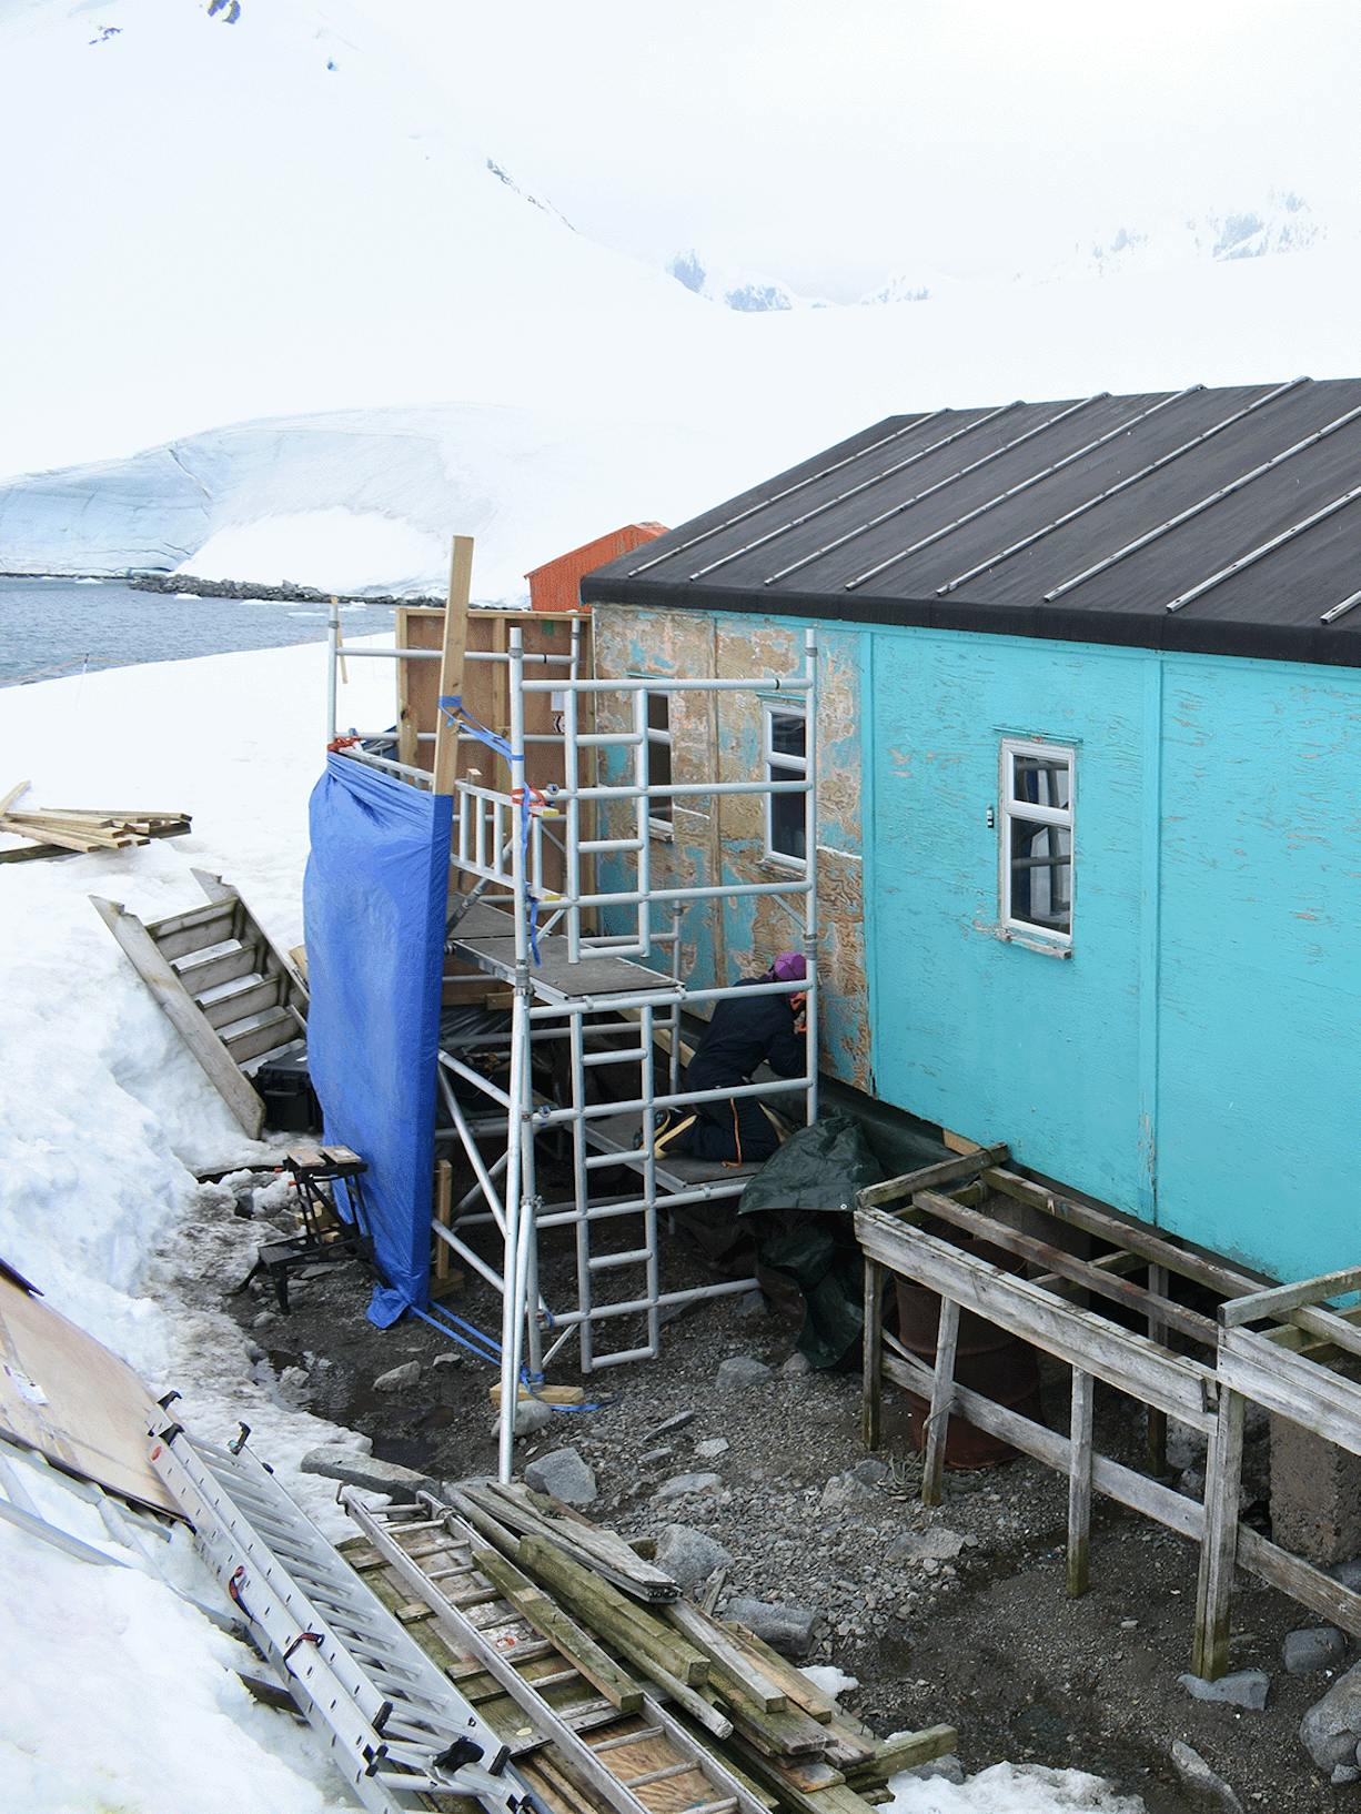
[[[336,1429],[252,1370],[221,1310],[259,1235],[191,1172],[272,1150],[245,1139],[89,903],[154,920],[201,905],[191,867],[220,871],[296,945],[323,677],[312,644],[5,691],[5,785],[31,776],[36,804],[183,807],[194,834],[0,869],[0,1255],[154,1391],[180,1388],[191,1426],[229,1435],[245,1417],[339,1527],[325,1482],[292,1475]],[[350,677],[343,713],[390,717],[388,664]]]

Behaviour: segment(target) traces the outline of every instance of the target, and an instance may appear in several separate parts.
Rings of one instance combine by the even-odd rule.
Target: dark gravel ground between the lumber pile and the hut
[[[550,1302],[559,1288],[570,1295],[572,1264],[566,1248],[544,1257]],[[668,1252],[666,1288],[704,1277],[697,1259]],[[227,1302],[261,1362],[296,1370],[285,1390],[365,1431],[376,1455],[436,1478],[494,1469],[492,1370],[419,1321],[372,1328],[367,1297],[365,1273],[339,1263],[294,1284],[289,1317],[259,1284]],[[495,1301],[475,1275],[448,1304],[495,1326]],[[1098,1498],[1092,1591],[1069,1600],[1062,1478],[1029,1460],[949,1473],[945,1504],[927,1511],[896,1395],[886,1391],[884,1466],[864,1468],[858,1377],[786,1370],[793,1335],[762,1301],[726,1297],[686,1312],[664,1330],[659,1360],[595,1373],[586,1384],[599,1406],[557,1411],[541,1437],[519,1444],[519,1464],[572,1446],[597,1477],[592,1517],[630,1536],[684,1524],[715,1538],[733,1556],[720,1609],[737,1596],[818,1609],[809,1660],[858,1678],[844,1703],[880,1734],[958,1725],[969,1770],[1000,1760],[1094,1770],[1143,1796],[1149,1814],[1199,1814],[1207,1803],[1189,1796],[1169,1756],[1181,1740],[1245,1810],[1321,1814],[1356,1799],[1354,1789],[1328,1787],[1296,1736],[1332,1678],[1288,1676],[1279,1647],[1287,1631],[1317,1624],[1314,1614],[1239,1576],[1232,1667],[1270,1673],[1267,1711],[1192,1702],[1178,1683],[1196,1604],[1189,1544]],[[619,1319],[613,1346],[637,1339]],[[724,1390],[719,1368],[733,1357],[771,1371]],[[377,1375],[406,1360],[421,1362],[412,1390],[374,1390]],[[552,1377],[577,1375],[559,1362]],[[1045,1406],[1054,1424],[1065,1420],[1062,1370],[1045,1377]],[[653,1435],[682,1413],[693,1413],[682,1428]],[[1096,1422],[1098,1448],[1138,1464],[1134,1406],[1098,1391]],[[719,1455],[699,1449],[717,1440],[728,1444]],[[1261,1477],[1261,1446],[1256,1466]],[[719,1478],[653,1497],[686,1473]]]

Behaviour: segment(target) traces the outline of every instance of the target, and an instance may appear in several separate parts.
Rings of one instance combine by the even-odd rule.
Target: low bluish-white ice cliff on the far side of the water
[[[441,591],[459,530],[475,595],[510,602],[532,566],[621,522],[682,521],[769,452],[490,405],[241,423],[0,486],[0,568]]]

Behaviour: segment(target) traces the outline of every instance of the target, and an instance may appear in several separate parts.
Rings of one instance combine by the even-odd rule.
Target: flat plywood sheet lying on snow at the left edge
[[[181,1518],[147,1458],[156,1402],[138,1375],[0,1275],[0,1429],[56,1468]]]

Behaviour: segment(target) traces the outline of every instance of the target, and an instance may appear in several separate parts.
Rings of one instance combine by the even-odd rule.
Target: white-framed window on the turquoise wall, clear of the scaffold
[[[1072,941],[1074,767],[1065,744],[1002,740],[1002,923],[1062,945]]]

